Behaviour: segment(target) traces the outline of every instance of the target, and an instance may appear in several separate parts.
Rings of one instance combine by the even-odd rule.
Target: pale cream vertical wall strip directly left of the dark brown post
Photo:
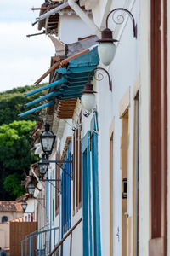
[[[149,169],[149,101],[150,101],[150,1],[140,1],[140,253],[148,255],[150,240],[150,169]]]

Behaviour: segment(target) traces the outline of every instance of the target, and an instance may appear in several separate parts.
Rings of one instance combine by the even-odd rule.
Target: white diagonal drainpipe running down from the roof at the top
[[[84,21],[84,23],[97,35],[99,38],[101,37],[101,32],[99,31],[98,26],[94,24],[94,22],[85,14],[82,8],[75,3],[74,0],[68,0],[68,4],[75,11],[75,13]]]

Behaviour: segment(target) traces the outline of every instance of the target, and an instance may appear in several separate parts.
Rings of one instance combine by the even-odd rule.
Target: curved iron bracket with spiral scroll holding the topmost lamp
[[[124,22],[124,17],[123,15],[118,15],[115,19],[114,17],[114,14],[117,12],[117,11],[124,11],[124,12],[127,12],[127,14],[130,16],[132,22],[133,22],[133,37],[134,38],[137,38],[137,24],[135,23],[135,20],[134,20],[134,17],[132,15],[132,13],[128,10],[128,9],[125,9],[125,8],[116,8],[116,9],[112,9],[111,12],[107,15],[107,18],[106,18],[106,28],[108,28],[108,20],[109,20],[109,17],[111,14],[113,14],[113,21],[116,23],[116,24],[122,24]]]

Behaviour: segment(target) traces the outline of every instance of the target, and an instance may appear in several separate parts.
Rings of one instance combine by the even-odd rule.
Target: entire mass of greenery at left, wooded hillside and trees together
[[[29,136],[39,113],[31,113],[22,119],[18,114],[29,110],[25,106],[27,102],[47,93],[42,91],[26,97],[26,92],[43,85],[26,85],[0,93],[0,200],[14,200],[25,193],[20,187],[20,181],[26,178],[31,164],[37,161],[30,150],[32,139]]]

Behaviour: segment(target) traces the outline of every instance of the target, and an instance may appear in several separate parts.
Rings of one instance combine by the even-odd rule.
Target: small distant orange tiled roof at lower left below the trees
[[[23,212],[23,209],[19,202],[0,201],[0,212]]]

